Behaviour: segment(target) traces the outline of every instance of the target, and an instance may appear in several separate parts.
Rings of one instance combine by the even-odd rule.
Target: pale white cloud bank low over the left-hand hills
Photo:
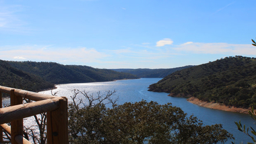
[[[107,54],[94,48],[53,48],[47,46],[0,47],[1,60],[31,60],[36,62],[59,62],[86,64],[100,62]]]

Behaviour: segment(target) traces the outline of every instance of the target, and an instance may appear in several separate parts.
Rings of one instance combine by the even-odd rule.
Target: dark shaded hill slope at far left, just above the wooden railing
[[[34,92],[54,87],[53,83],[46,82],[40,78],[40,76],[28,74],[27,72],[13,68],[3,60],[0,60],[0,73],[1,86],[20,88]]]

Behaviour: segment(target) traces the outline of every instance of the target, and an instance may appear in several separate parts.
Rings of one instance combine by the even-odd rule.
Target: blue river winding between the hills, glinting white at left
[[[214,125],[216,123],[222,124],[223,128],[232,133],[236,139],[236,143],[252,142],[247,135],[237,130],[234,121],[239,121],[246,126],[253,126],[253,119],[249,115],[232,113],[226,111],[219,111],[214,109],[207,109],[195,104],[187,102],[186,98],[174,98],[167,96],[165,92],[150,92],[148,86],[156,83],[161,78],[141,78],[135,80],[117,80],[113,82],[90,82],[80,84],[60,84],[57,85],[57,89],[53,92],[58,92],[57,96],[66,96],[70,100],[70,96],[73,95],[74,89],[84,90],[88,94],[97,95],[97,92],[104,94],[106,90],[116,90],[113,98],[119,97],[117,104],[123,104],[125,102],[136,102],[140,100],[156,101],[159,104],[166,104],[171,102],[174,106],[179,106],[187,115],[194,115],[204,125]],[[43,91],[42,93],[51,94],[51,90]],[[255,127],[255,126],[253,126]],[[228,141],[231,143],[231,141]]]

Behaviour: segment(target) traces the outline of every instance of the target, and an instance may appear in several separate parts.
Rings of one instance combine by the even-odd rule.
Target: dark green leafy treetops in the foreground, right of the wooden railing
[[[196,117],[186,117],[170,103],[142,100],[114,104],[113,109],[102,103],[82,103],[73,98],[69,104],[71,143],[225,143],[232,139],[222,125],[203,126]]]

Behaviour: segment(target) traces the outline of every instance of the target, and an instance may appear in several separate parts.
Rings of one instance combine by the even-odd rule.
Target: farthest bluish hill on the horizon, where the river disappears
[[[138,69],[112,69],[117,72],[127,72],[129,74],[134,74],[138,76],[139,78],[164,78],[165,76],[168,76],[168,74],[172,74],[173,72],[176,72],[177,70],[183,70],[185,68],[191,68],[192,66],[183,66],[179,68],[160,68],[160,69],[149,69],[149,68],[138,68]]]

